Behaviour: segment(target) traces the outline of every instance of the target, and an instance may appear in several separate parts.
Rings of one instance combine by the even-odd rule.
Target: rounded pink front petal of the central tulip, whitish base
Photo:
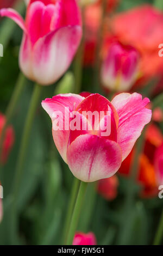
[[[67,163],[76,178],[92,182],[109,178],[121,166],[120,146],[96,135],[81,135],[67,149]]]

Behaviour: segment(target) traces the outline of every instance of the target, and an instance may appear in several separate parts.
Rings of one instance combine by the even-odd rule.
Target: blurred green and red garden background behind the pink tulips
[[[98,245],[152,245],[163,206],[163,198],[158,196],[163,179],[158,178],[156,164],[157,157],[163,155],[160,149],[163,143],[163,101],[160,100],[163,57],[159,56],[159,45],[163,44],[163,3],[160,5],[161,1],[153,0],[79,2],[83,13],[82,44],[66,74],[57,83],[43,88],[37,107],[17,197],[16,243],[60,245],[72,188],[73,175],[55,148],[51,120],[42,109],[41,100],[70,92],[98,92],[108,99],[120,92],[139,92],[153,102],[149,106],[153,108],[152,121],[117,174],[89,184],[78,231],[92,232]],[[23,1],[0,0],[0,8],[13,6],[22,16],[25,15]],[[18,67],[21,38],[21,29],[11,20],[1,18],[0,136],[15,84],[18,79],[24,80],[1,156],[0,181],[4,197],[0,199],[1,245],[11,244],[12,185],[24,120],[33,91],[33,82],[23,77]],[[105,77],[105,69],[116,61],[115,45],[124,52],[123,58],[128,61],[127,82],[123,81],[122,74]],[[135,54],[134,60],[129,57],[131,51]],[[119,69],[125,70],[125,64],[124,67],[121,65]],[[160,168],[163,168],[162,165]],[[163,244],[163,237],[160,244]]]

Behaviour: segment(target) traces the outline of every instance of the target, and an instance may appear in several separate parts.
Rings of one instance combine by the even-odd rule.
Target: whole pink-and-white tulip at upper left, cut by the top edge
[[[26,21],[12,9],[1,9],[23,29],[19,63],[24,75],[42,85],[57,81],[71,64],[82,38],[76,0],[30,0]]]

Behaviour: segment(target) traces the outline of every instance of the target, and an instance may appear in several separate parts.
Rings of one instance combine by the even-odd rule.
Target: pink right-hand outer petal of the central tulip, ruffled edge
[[[143,127],[151,121],[152,111],[146,106],[148,98],[142,100],[138,93],[121,93],[111,101],[119,116],[117,143],[122,149],[122,159],[126,159]]]

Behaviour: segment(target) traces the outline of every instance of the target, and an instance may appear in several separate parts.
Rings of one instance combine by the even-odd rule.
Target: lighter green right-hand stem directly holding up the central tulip
[[[78,196],[76,199],[76,204],[74,205],[74,210],[73,210],[73,214],[72,214],[70,228],[68,231],[66,245],[72,245],[72,243],[73,243],[73,237],[74,237],[74,234],[77,229],[78,220],[79,220],[79,216],[80,216],[80,211],[82,209],[82,204],[83,204],[83,199],[85,196],[86,188],[87,188],[87,183],[80,181],[80,187],[79,187]]]

